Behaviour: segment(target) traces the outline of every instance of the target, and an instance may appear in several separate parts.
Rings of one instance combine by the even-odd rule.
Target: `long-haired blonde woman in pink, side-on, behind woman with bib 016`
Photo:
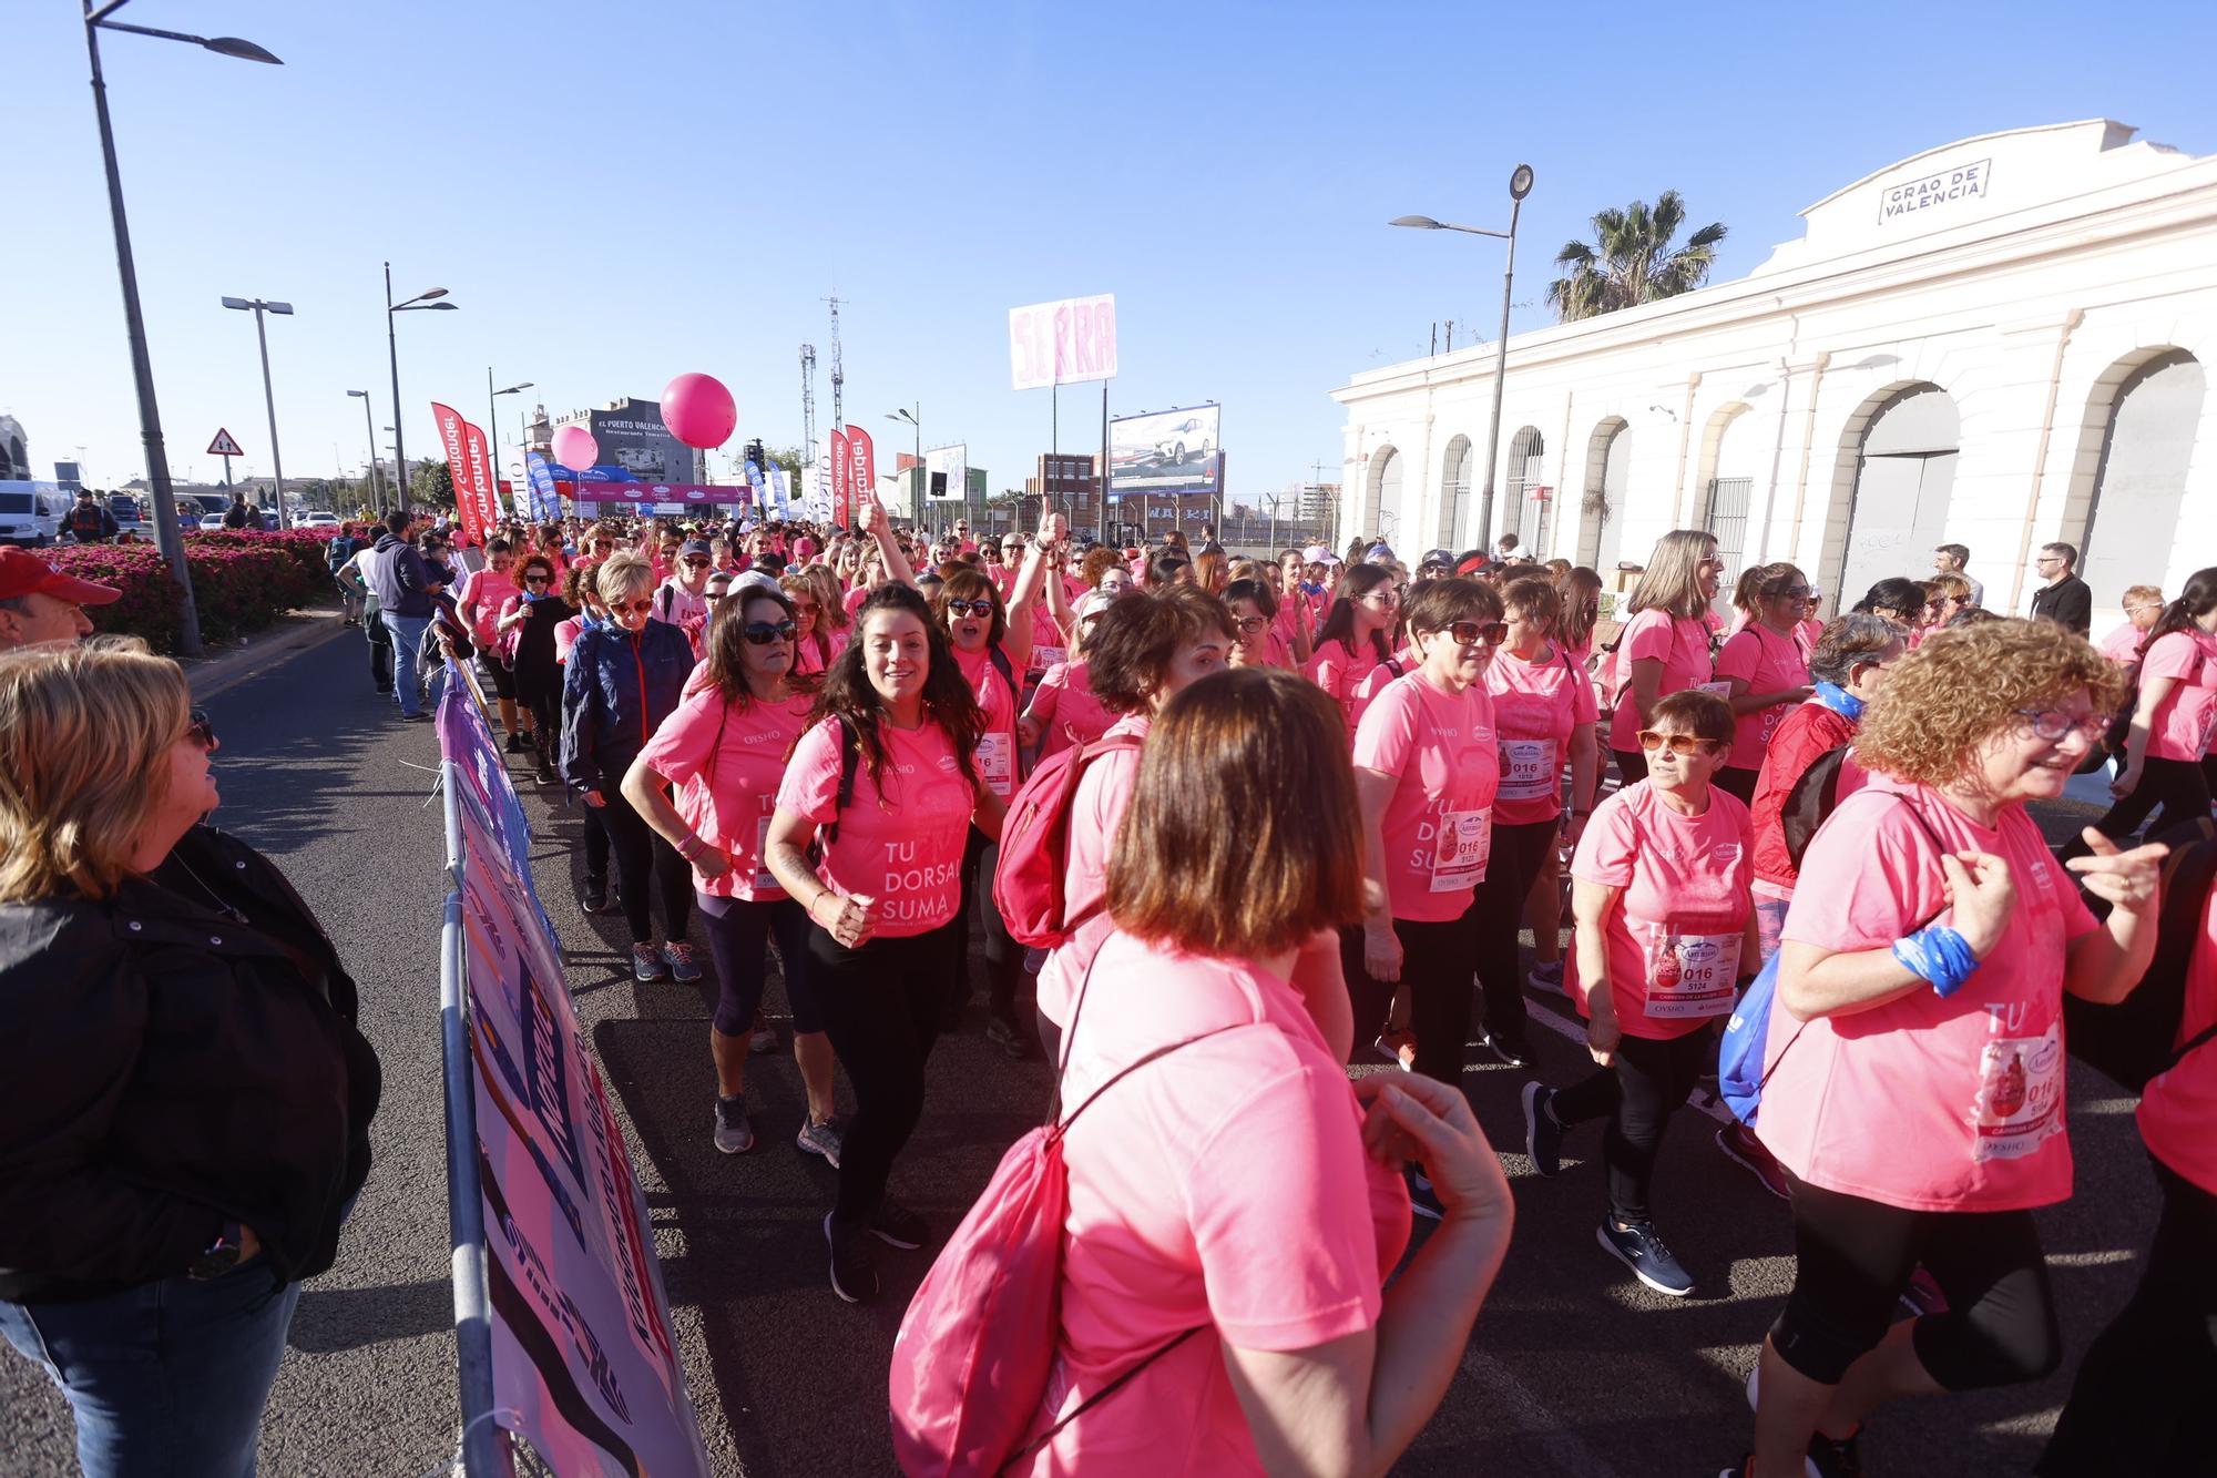
[[[1656,539],[1641,584],[1632,588],[1632,619],[1616,635],[1616,699],[1610,708],[1610,755],[1623,783],[1647,777],[1638,735],[1654,706],[1672,692],[1707,688],[1723,697],[1712,661],[1709,601],[1725,579],[1716,535],[1674,528]]]

